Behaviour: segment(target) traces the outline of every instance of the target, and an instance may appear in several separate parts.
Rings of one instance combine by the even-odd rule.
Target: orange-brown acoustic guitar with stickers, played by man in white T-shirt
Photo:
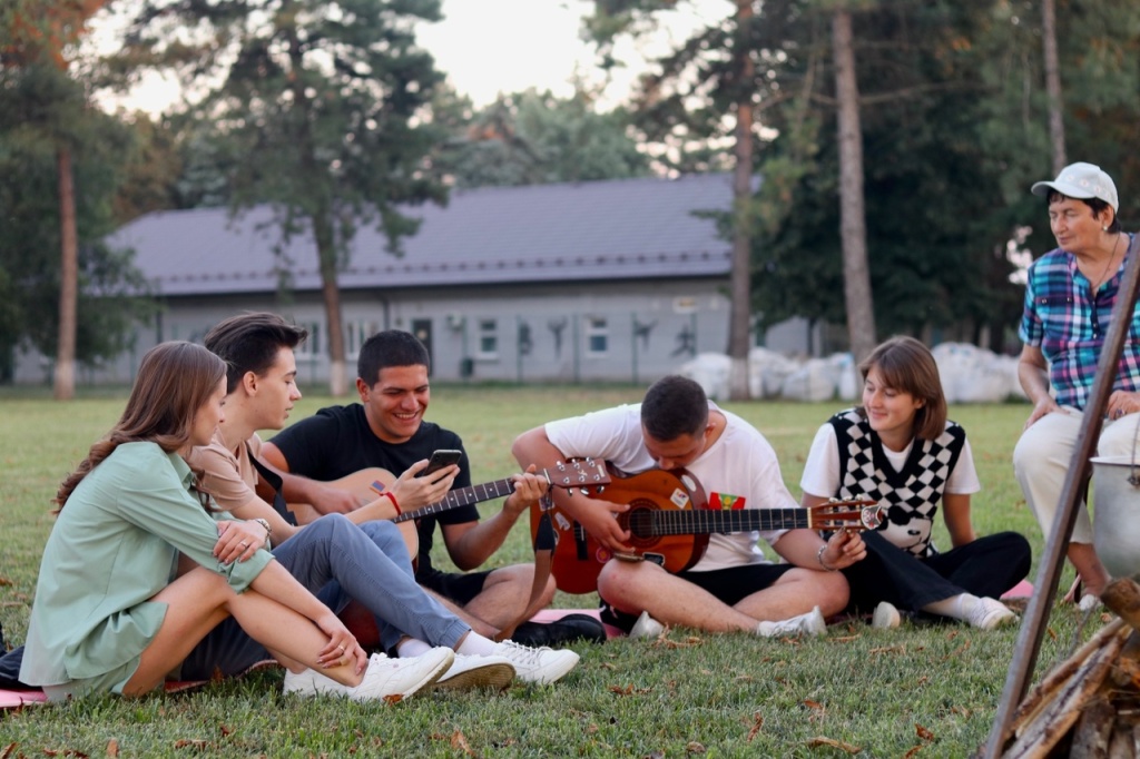
[[[557,542],[552,573],[560,590],[593,593],[597,576],[610,558],[652,561],[677,573],[692,568],[705,555],[709,536],[751,530],[873,530],[882,519],[873,500],[830,501],[811,508],[710,509],[705,490],[686,470],[646,470],[629,474],[606,466],[610,482],[585,488],[591,498],[628,504],[618,515],[629,531],[634,556],[614,556],[569,514],[551,511]],[[542,506],[531,506],[530,525],[538,529]]]

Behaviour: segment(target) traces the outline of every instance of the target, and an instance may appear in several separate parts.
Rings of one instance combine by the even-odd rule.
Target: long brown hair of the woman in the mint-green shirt
[[[154,442],[168,454],[190,439],[194,415],[226,376],[226,362],[202,345],[160,343],[146,352],[131,397],[111,432],[59,485],[54,503],[63,509],[91,470],[125,442]]]

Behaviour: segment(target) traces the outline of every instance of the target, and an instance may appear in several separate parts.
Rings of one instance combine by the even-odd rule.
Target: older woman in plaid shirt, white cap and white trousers
[[[1122,231],[1116,218],[1116,186],[1099,166],[1068,165],[1053,181],[1035,183],[1033,194],[1048,198],[1049,226],[1058,246],[1037,259],[1028,271],[1020,327],[1025,346],[1018,378],[1033,402],[1033,411],[1013,449],[1013,471],[1048,536],[1121,289],[1130,236]],[[1117,422],[1140,411],[1137,335],[1140,312],[1132,315],[1132,328],[1108,400],[1099,440],[1101,456],[1132,452],[1137,419]],[[1084,504],[1067,555],[1091,594],[1082,603],[1083,609],[1089,609],[1109,577],[1093,548]]]

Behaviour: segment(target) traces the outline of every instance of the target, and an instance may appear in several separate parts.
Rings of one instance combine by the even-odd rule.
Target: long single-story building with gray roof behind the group
[[[385,328],[420,336],[439,379],[644,384],[725,351],[732,246],[709,213],[731,205],[728,174],[488,187],[405,209],[422,226],[400,256],[361,228],[340,274],[350,376],[361,342]],[[307,326],[302,384],[327,379],[316,246],[307,232],[283,240],[271,207],[150,213],[111,243],[133,248],[163,312],[130,356],[81,381],[127,382],[155,343],[201,340],[245,310]],[[782,325],[763,342],[803,351],[807,327]],[[17,381],[48,375],[39,356],[17,368]]]

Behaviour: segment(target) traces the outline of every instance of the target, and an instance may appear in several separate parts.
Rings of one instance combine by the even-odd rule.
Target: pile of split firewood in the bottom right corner
[[[1101,601],[1119,619],[1029,691],[1002,757],[1140,759],[1140,586],[1114,580]]]

